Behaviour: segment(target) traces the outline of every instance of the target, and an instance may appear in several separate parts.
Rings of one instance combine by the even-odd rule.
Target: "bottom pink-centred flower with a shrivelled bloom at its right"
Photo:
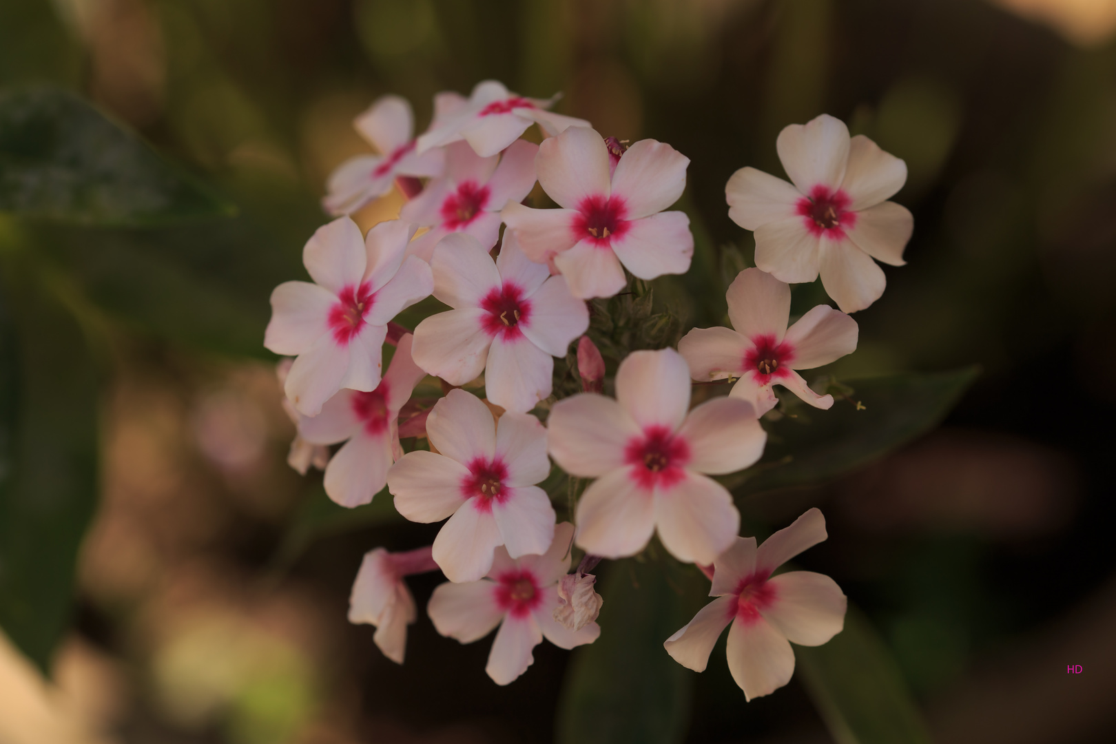
[[[554,619],[558,580],[569,569],[569,541],[574,525],[562,522],[542,555],[512,560],[496,549],[488,578],[469,583],[443,583],[434,590],[426,611],[434,628],[462,644],[480,640],[500,626],[484,670],[498,685],[507,685],[535,663],[531,650],[546,638],[559,648],[591,644],[600,627],[589,622],[569,630]]]

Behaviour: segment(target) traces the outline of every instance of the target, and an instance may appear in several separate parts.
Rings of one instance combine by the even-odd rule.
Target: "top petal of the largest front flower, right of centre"
[[[633,351],[616,370],[616,400],[641,427],[674,432],[690,408],[690,366],[671,348]]]

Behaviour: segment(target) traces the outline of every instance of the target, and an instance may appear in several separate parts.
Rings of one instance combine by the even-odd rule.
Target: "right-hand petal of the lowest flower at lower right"
[[[791,571],[768,582],[775,601],[760,610],[768,622],[799,646],[820,646],[845,627],[848,599],[837,582],[812,571]]]

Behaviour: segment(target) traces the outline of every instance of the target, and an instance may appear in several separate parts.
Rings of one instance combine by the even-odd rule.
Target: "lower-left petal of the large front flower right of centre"
[[[577,544],[604,558],[625,558],[643,550],[655,531],[652,494],[639,487],[629,468],[594,481],[577,502]]]

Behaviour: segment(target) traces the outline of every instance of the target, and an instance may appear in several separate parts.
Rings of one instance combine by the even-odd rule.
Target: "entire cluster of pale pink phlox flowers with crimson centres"
[[[826,539],[818,510],[757,548],[718,476],[763,455],[776,385],[834,405],[799,370],[855,350],[847,312],[884,288],[873,259],[903,263],[910,213],[886,200],[905,166],[833,117],[787,127],[777,147],[790,183],[742,168],[727,186],[758,263],[728,290],[731,328],[694,328],[677,349],[622,351],[613,366],[591,339],[602,298],[690,269],[690,220],[670,209],[690,161],[654,139],[605,138],[549,110],[555,100],[488,80],[469,97],[439,94],[417,137],[398,97],[356,118],[378,152],[330,176],[323,205],[336,219],[302,254],[312,281],[271,297],[264,346],[288,357],[280,381],[298,428],[289,462],[323,468],[341,506],[394,499],[408,520],[443,522],[432,545],[368,552],[353,587],[349,619],[375,626],[396,663],[417,616],[407,576],[448,579],[426,608],[443,636],[468,644],[499,628],[485,670],[506,685],[542,639],[568,649],[623,632],[598,626],[607,597],[589,571],[657,537],[715,597],[666,651],[700,671],[731,625],[733,678],[748,699],[766,695],[790,678],[790,642],[840,631],[845,596],[818,573],[773,573]],[[520,138],[532,125],[541,144]],[[397,186],[398,219],[362,234],[348,215]],[[528,205],[532,191],[557,206]],[[787,282],[818,273],[839,309],[791,322]],[[556,358],[580,393],[556,386]],[[691,407],[695,384],[724,381],[699,389],[727,394]],[[420,387],[440,394],[413,397]]]

